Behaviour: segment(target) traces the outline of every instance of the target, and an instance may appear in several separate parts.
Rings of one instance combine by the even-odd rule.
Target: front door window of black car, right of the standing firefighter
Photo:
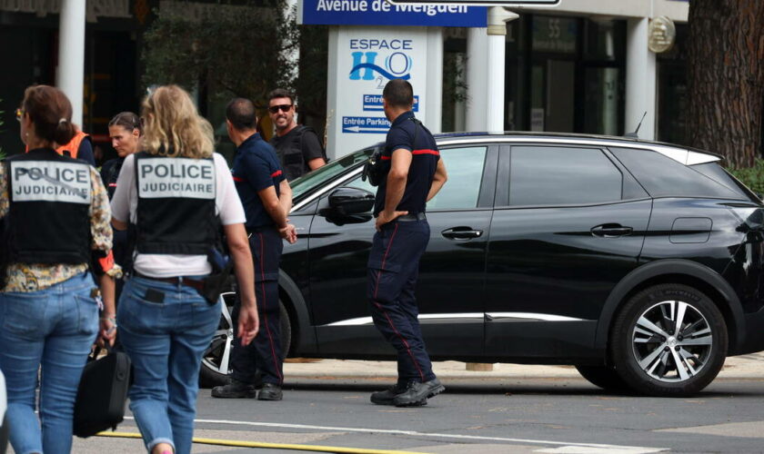
[[[447,148],[440,150],[448,180],[429,202],[427,210],[465,210],[477,207],[488,147]]]

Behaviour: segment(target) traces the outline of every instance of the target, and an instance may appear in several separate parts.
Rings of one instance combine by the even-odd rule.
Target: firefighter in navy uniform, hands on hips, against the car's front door
[[[425,350],[414,291],[419,259],[429,241],[425,208],[447,174],[435,139],[411,112],[411,84],[391,80],[382,98],[385,116],[392,122],[381,157],[389,171],[377,189],[377,233],[368,258],[367,295],[374,324],[397,350],[398,380],[373,393],[371,401],[413,407],[445,390]]]

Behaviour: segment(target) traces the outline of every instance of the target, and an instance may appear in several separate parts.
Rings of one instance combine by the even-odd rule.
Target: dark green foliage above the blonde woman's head
[[[200,4],[186,5],[191,11]],[[297,45],[297,26],[285,21],[284,0],[209,6],[193,14],[157,12],[145,35],[144,84],[199,88],[210,100],[244,96],[258,107],[266,105],[273,88],[293,87],[283,68],[286,52]]]

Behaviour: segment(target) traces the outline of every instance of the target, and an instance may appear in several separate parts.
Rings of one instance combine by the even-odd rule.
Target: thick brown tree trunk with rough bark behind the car
[[[727,165],[759,157],[764,116],[764,1],[690,0],[689,143]]]

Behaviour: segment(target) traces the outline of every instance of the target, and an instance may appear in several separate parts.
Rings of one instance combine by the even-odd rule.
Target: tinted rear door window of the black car
[[[623,175],[595,148],[513,146],[510,205],[553,205],[621,200]]]

